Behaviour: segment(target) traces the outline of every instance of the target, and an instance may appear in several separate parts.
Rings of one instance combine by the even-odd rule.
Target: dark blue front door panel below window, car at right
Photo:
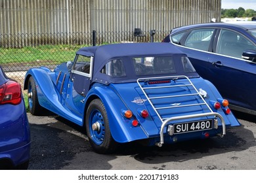
[[[236,65],[234,61],[240,64]],[[219,65],[215,65],[216,62]],[[219,90],[230,103],[251,110],[256,109],[256,97],[253,97],[256,87],[252,86],[256,79],[255,63],[215,55],[209,58],[208,68],[209,75],[215,76],[215,80],[212,80],[213,84],[220,86]]]

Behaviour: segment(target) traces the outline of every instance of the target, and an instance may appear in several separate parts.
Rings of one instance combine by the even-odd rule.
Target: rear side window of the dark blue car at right
[[[214,29],[195,29],[190,32],[184,46],[208,51]]]

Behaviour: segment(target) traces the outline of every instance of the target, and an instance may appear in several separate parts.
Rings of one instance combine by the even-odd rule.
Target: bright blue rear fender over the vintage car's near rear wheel
[[[96,95],[106,108],[110,131],[116,142],[123,143],[148,138],[148,135],[146,135],[140,126],[134,127],[131,125],[134,118],[127,119],[122,115],[121,110],[127,110],[129,108],[127,108],[117,93],[108,87],[95,87],[87,94],[87,101],[91,101],[89,98],[95,97],[93,95]],[[88,105],[89,102],[87,103]]]

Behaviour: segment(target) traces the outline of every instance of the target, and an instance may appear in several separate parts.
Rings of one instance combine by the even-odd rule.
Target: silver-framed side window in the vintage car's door
[[[73,70],[90,74],[91,57],[77,55]]]

